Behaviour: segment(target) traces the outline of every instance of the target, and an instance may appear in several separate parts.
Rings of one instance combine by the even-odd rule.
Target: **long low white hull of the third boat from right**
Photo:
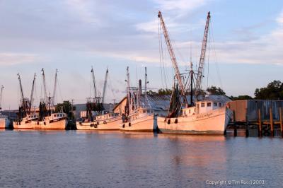
[[[119,130],[122,117],[96,122],[76,122],[78,130]]]

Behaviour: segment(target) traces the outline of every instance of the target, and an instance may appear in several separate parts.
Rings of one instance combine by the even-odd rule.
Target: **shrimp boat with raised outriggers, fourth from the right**
[[[44,84],[44,93],[45,98],[40,101],[39,105],[39,116],[37,120],[32,120],[31,124],[33,125],[33,129],[42,129],[42,130],[65,130],[67,128],[68,120],[67,114],[63,112],[61,109],[60,112],[53,112],[54,110],[54,98],[55,98],[55,91],[57,86],[57,69],[55,74],[55,81],[54,81],[54,91],[53,97],[46,97],[46,84],[45,84],[45,72],[42,69],[42,83]],[[51,104],[53,103],[53,107]],[[49,105],[49,110],[47,110],[46,104]]]

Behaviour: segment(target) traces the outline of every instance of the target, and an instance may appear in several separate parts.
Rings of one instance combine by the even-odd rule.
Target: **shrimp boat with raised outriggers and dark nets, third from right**
[[[122,115],[120,113],[105,112],[105,108],[103,107],[108,79],[108,69],[106,69],[102,99],[100,99],[96,93],[96,79],[93,68],[91,69],[91,78],[93,82],[94,98],[86,99],[86,117],[83,117],[81,121],[76,122],[76,129],[119,130],[120,122],[122,122]]]

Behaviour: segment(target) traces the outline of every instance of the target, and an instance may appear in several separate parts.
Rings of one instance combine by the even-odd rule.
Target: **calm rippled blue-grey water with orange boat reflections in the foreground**
[[[283,139],[1,131],[0,187],[282,187]],[[239,187],[239,184],[222,187]]]

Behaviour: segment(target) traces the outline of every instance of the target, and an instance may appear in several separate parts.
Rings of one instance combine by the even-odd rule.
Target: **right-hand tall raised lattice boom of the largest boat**
[[[207,23],[205,24],[205,28],[204,28],[204,37],[202,40],[202,52],[200,54],[200,64],[197,71],[197,81],[196,81],[196,90],[195,90],[196,96],[200,95],[200,91],[202,87],[204,59],[205,59],[205,52],[207,50],[207,35],[209,30],[209,20],[210,20],[210,12],[207,13]]]

